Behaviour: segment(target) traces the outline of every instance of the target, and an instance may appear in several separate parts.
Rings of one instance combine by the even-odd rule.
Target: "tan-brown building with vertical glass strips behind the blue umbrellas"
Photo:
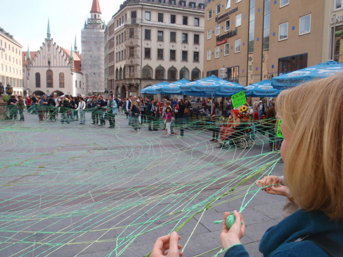
[[[206,1],[204,75],[246,86],[331,59],[328,2]]]

